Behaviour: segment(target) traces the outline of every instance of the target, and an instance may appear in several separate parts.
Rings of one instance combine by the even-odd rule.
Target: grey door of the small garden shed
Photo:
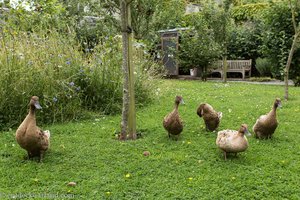
[[[177,49],[176,38],[162,38],[163,64],[169,75],[178,75],[178,67],[175,61]]]

